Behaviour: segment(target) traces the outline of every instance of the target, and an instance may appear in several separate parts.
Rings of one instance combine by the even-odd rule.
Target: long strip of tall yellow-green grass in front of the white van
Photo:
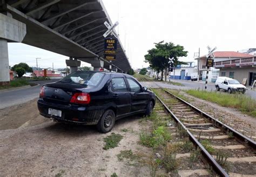
[[[188,90],[186,93],[203,100],[217,103],[220,106],[237,108],[239,111],[256,118],[256,100],[244,94],[227,94],[202,90]]]

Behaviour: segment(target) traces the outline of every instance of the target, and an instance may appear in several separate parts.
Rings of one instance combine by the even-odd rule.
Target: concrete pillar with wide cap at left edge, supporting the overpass
[[[8,42],[22,42],[26,35],[26,25],[6,14],[0,13],[0,85],[10,81]]]

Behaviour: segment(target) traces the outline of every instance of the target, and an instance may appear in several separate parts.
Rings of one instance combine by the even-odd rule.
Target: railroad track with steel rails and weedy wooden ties
[[[155,85],[158,86],[156,82]],[[164,88],[151,90],[159,96],[157,99],[165,113],[171,114],[177,125],[186,131],[218,175],[256,176],[255,141]]]

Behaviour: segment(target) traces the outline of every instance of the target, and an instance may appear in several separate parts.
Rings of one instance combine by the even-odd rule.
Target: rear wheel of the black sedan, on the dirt
[[[116,120],[116,116],[113,110],[107,110],[102,117],[100,118],[97,129],[101,133],[110,132],[114,126],[114,122]]]

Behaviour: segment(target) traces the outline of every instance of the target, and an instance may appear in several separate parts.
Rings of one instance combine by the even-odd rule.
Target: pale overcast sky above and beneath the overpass
[[[255,0],[103,0],[112,23],[126,49],[133,69],[144,63],[147,50],[161,40],[185,47],[185,62],[194,61],[194,52],[238,51],[256,47]],[[9,43],[10,65],[64,68],[68,57],[20,43]],[[90,64],[82,63],[83,66]]]

